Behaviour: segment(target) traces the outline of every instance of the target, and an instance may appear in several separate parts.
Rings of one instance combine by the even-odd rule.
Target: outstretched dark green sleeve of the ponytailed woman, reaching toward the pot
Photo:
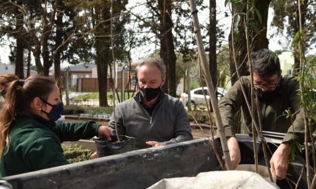
[[[78,122],[78,123],[57,123],[55,134],[64,141],[77,141],[80,139],[90,139],[98,135],[100,124],[94,121]]]

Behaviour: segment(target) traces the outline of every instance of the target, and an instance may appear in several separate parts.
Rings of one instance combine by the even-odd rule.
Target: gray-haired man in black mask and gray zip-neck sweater
[[[159,58],[138,63],[140,91],[118,104],[115,117],[119,135],[136,138],[136,149],[192,140],[192,130],[181,102],[164,93],[166,66]],[[115,130],[114,114],[109,127]],[[114,131],[113,131],[114,133]]]

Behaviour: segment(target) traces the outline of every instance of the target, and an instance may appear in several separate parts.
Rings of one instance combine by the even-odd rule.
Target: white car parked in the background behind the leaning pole
[[[200,88],[195,88],[193,90],[191,90],[191,110],[195,110],[197,109],[197,107],[199,107],[199,109],[205,109],[206,108],[206,103],[205,103],[205,99],[204,99],[204,95],[203,95],[203,90],[204,89],[204,93],[206,96],[206,99],[208,101],[208,103],[210,103],[210,96],[209,96],[209,90],[208,88],[205,87],[200,87]],[[216,92],[216,96],[218,101],[227,93],[227,90],[224,88],[220,88],[217,87],[217,92]],[[183,104],[184,107],[187,106],[187,93],[182,93],[180,95],[180,101]]]

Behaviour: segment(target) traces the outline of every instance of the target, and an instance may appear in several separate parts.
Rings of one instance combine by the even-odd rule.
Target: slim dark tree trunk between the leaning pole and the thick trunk
[[[214,90],[217,86],[217,61],[216,61],[216,1],[210,0],[210,28],[209,28],[209,44],[210,44],[210,73],[214,84]],[[211,106],[212,107],[212,106]]]

